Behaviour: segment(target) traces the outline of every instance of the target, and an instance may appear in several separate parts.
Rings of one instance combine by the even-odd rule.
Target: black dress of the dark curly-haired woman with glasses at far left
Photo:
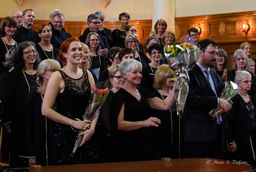
[[[6,99],[5,111],[3,114],[3,125],[10,124],[10,167],[28,166],[28,153],[25,135],[27,135],[26,116],[28,114],[27,100],[28,93],[37,88],[36,74],[28,75],[20,67],[10,72],[9,91]],[[18,140],[18,144],[17,144]]]

